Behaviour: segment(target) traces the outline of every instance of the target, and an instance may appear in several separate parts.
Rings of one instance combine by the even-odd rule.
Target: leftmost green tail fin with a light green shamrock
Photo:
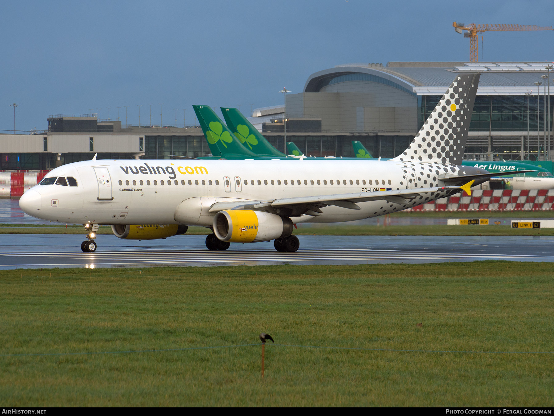
[[[192,106],[198,117],[204,137],[212,154],[215,149],[220,155],[240,154],[251,158],[257,158],[258,155],[245,148],[234,134],[225,126],[217,114],[209,106]]]

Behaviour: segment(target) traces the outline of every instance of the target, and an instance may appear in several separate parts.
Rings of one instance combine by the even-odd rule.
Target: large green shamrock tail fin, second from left
[[[229,127],[245,148],[252,150],[252,152],[260,156],[286,157],[284,153],[275,149],[237,108],[220,108],[227,127]]]

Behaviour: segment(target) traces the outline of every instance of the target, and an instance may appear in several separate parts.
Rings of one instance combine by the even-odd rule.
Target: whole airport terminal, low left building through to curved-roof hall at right
[[[552,147],[545,108],[550,98],[554,111],[554,100],[545,94],[545,63],[537,62],[389,62],[315,72],[302,92],[286,95],[286,141],[306,155],[347,157],[353,156],[351,141],[357,140],[374,157],[394,157],[408,147],[455,76],[468,72],[481,77],[465,158],[544,159],[545,149]],[[536,82],[542,82],[538,95]],[[285,106],[279,105],[255,109],[250,118],[281,151],[284,115]],[[123,128],[121,121],[99,120],[95,114],[52,115],[47,131],[0,134],[4,171],[48,170],[96,153],[99,159],[163,159],[209,152],[197,126]]]

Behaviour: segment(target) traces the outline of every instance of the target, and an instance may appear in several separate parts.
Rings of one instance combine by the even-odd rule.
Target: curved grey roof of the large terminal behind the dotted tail
[[[345,64],[315,72],[304,85],[304,92],[319,92],[339,82],[368,81],[389,85],[411,95],[441,95],[456,74],[479,72],[479,95],[523,95],[536,91],[535,82],[543,81],[547,71],[542,62],[459,63],[390,62],[381,64]]]

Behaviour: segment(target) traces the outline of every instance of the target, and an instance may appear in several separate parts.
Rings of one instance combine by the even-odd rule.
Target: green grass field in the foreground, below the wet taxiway
[[[0,354],[554,351],[551,264],[0,272]],[[417,326],[421,323],[422,326]],[[270,343],[271,344],[271,343]],[[552,406],[554,354],[260,346],[0,356],[12,406]]]

